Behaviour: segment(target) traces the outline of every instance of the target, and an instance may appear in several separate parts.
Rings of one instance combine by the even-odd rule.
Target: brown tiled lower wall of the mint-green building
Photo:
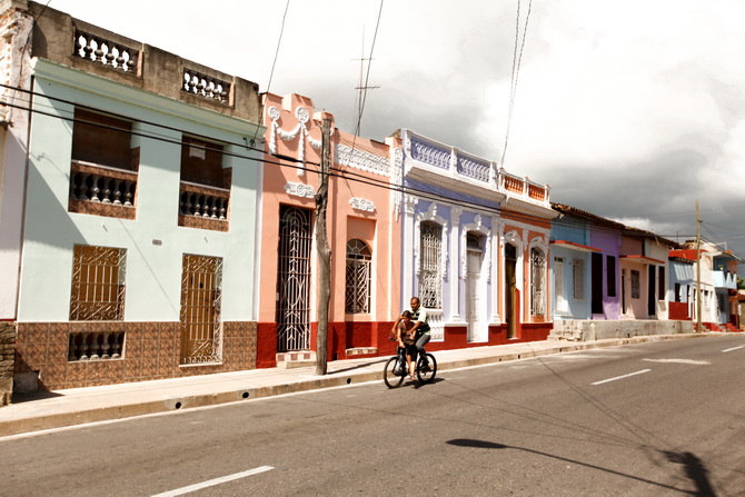
[[[256,322],[222,324],[222,362],[179,366],[179,322],[20,322],[16,374],[38,371],[39,388],[91,387],[256,368]],[[69,334],[125,331],[121,359],[68,361]]]

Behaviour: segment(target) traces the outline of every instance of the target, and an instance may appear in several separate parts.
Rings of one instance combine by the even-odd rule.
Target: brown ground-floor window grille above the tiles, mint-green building
[[[71,321],[116,321],[125,316],[125,249],[72,249]]]

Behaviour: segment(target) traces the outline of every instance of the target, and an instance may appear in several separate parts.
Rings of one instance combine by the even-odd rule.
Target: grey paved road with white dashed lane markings
[[[742,496],[744,378],[673,340],[11,437],[0,494]]]

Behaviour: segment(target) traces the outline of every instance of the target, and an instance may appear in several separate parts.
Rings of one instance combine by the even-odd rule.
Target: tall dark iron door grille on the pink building
[[[282,206],[277,267],[277,350],[310,345],[310,210]]]

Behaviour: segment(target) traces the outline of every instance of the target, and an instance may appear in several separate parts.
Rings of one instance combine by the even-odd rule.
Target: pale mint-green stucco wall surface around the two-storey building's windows
[[[68,83],[76,83],[77,88]],[[226,149],[224,167],[232,168],[229,232],[178,226],[181,132],[177,130],[239,143],[244,132],[252,127],[219,116],[209,116],[212,122],[208,119],[198,122],[199,113],[195,109],[165,99],[150,100],[146,109],[133,102],[151,99],[151,96],[139,90],[122,92],[108,81],[46,62],[37,63],[36,90],[175,129],[135,122],[135,132],[153,138],[135,137],[132,141],[132,146],[141,150],[137,218],[116,219],[68,212],[72,127],[63,119],[37,115],[31,135],[19,320],[64,321],[69,318],[74,243],[127,249],[126,320],[179,320],[183,254],[224,258],[222,319],[256,320],[254,274],[259,166],[248,158],[256,156],[237,145],[228,145]],[[111,96],[120,96],[121,100]],[[34,108],[59,117],[70,117],[73,111],[69,103],[42,97],[37,97]]]

